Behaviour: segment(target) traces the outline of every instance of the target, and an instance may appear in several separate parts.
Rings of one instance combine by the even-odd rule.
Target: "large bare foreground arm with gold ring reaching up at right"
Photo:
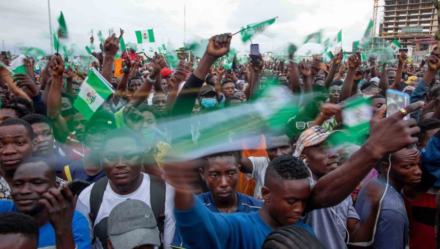
[[[421,106],[423,102],[410,104],[405,111],[411,113]],[[342,202],[385,154],[418,142],[413,135],[420,132],[420,128],[414,119],[403,120],[405,115],[401,111],[383,118],[385,111],[386,106],[383,105],[375,113],[367,142],[345,164],[318,180],[308,200],[308,210],[332,207]]]

